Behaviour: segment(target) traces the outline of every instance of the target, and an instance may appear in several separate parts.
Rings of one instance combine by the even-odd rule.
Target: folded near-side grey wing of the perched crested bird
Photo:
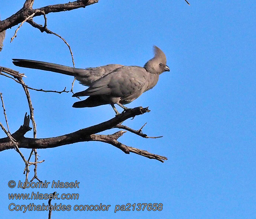
[[[73,96],[110,95],[126,98],[141,94],[146,83],[146,70],[139,66],[123,66],[94,81],[88,89]]]

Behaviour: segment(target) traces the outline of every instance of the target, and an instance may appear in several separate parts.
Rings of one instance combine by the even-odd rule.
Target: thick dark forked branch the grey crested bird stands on
[[[19,140],[17,140],[17,145],[20,148],[46,149],[46,148],[59,147],[62,145],[68,145],[76,142],[100,141],[100,142],[109,143],[117,147],[118,149],[124,151],[124,153],[126,154],[129,154],[130,152],[132,152],[150,159],[155,159],[163,162],[167,160],[166,157],[156,155],[156,154],[151,154],[148,151],[136,149],[134,147],[129,147],[122,144],[121,142],[118,142],[117,139],[125,133],[124,131],[118,131],[112,135],[96,134],[101,131],[112,129],[114,126],[117,126],[117,124],[129,118],[132,118],[134,116],[142,115],[146,112],[150,112],[150,110],[148,110],[148,108],[136,107],[129,111],[123,112],[120,115],[117,115],[106,122],[102,122],[97,125],[83,128],[81,130],[78,130],[69,134],[61,135],[58,137],[43,138],[43,139],[21,137],[19,138]],[[13,148],[13,144],[10,142],[10,139],[8,138],[0,139],[0,151],[11,149],[11,148]]]

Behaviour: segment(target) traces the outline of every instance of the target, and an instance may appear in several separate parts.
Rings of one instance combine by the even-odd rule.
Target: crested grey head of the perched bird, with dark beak
[[[161,49],[154,46],[155,56],[150,59],[144,68],[151,74],[161,74],[163,72],[170,72],[170,68],[166,65],[166,57]]]

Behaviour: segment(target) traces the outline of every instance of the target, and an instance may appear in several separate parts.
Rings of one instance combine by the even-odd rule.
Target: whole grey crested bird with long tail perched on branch
[[[96,107],[110,104],[118,115],[119,112],[114,104],[122,107],[124,111],[129,110],[124,104],[131,103],[142,93],[152,89],[157,84],[159,74],[170,71],[166,65],[163,51],[157,46],[154,46],[154,51],[154,58],[150,59],[144,67],[110,64],[96,68],[78,69],[49,62],[27,59],[12,60],[16,66],[74,76],[80,84],[89,86],[89,88],[75,93],[73,96],[89,97],[86,100],[75,102],[73,107]]]

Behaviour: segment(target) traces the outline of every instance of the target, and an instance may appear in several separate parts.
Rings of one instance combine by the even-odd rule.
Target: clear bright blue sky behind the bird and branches
[[[2,0],[5,19],[25,0]],[[64,0],[35,0],[34,8]],[[253,1],[120,1],[99,3],[69,12],[47,15],[48,28],[64,37],[78,68],[105,64],[143,66],[153,57],[153,45],[166,54],[171,71],[128,107],[149,106],[150,113],[124,124],[160,139],[131,133],[119,140],[128,146],[168,157],[165,163],[136,154],[124,154],[111,145],[76,143],[38,150],[38,177],[49,182],[79,181],[76,189],[8,188],[8,181],[23,181],[24,163],[14,150],[1,152],[2,218],[45,219],[48,212],[9,211],[8,205],[32,200],[9,200],[8,193],[79,193],[78,200],[52,203],[108,204],[108,212],[53,212],[52,218],[256,218],[256,77],[255,16]],[[42,17],[35,21],[43,23]],[[35,59],[72,66],[67,46],[53,35],[24,24],[12,43],[16,27],[7,30],[0,66],[25,73],[34,88],[70,89],[72,77],[18,68],[12,58]],[[74,91],[83,89],[75,84]],[[21,86],[3,76],[0,92],[11,131],[29,111]],[[72,108],[71,93],[30,91],[35,108],[37,137],[54,137],[108,120],[109,105]],[[1,109],[0,109],[1,111]],[[0,121],[4,116],[0,113]],[[113,133],[110,130],[104,133]],[[32,137],[32,132],[26,134]],[[5,137],[0,132],[0,138]],[[22,149],[28,157],[30,150]],[[33,177],[31,168],[30,178]],[[47,201],[33,200],[35,204]],[[114,213],[115,205],[163,203],[162,211]]]

